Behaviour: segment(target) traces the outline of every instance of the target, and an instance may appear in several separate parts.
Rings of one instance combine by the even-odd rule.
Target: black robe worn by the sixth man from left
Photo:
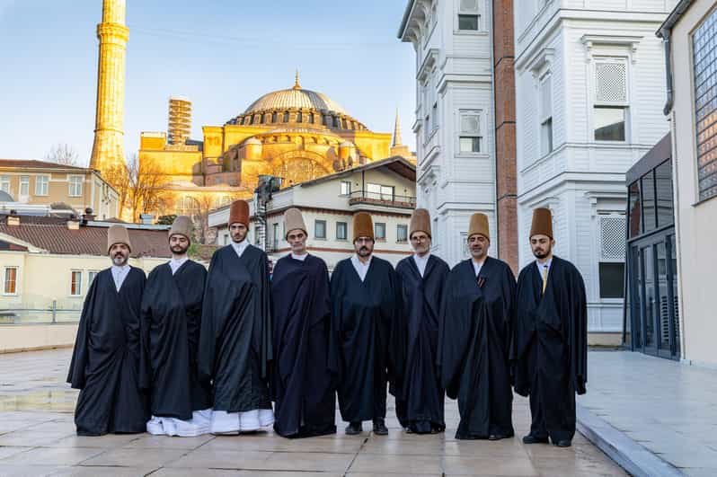
[[[396,416],[403,428],[426,433],[446,428],[445,393],[436,367],[438,317],[450,269],[429,255],[423,277],[413,257],[398,262],[401,310],[394,321],[392,352],[396,356]]]

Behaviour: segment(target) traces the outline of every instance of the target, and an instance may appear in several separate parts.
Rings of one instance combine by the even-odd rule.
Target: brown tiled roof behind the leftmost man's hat
[[[67,228],[67,221],[57,217],[21,216],[20,225],[7,225],[0,219],[0,234],[10,235],[50,253],[69,255],[106,255],[107,227],[82,225]],[[132,257],[170,258],[166,230],[128,229]]]

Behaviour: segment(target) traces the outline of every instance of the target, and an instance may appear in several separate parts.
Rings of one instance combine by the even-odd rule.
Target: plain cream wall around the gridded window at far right
[[[695,96],[691,31],[713,0],[695,0],[672,31],[675,102],[671,119],[682,349],[686,360],[717,365],[713,293],[717,253],[717,199],[699,202],[695,151]]]

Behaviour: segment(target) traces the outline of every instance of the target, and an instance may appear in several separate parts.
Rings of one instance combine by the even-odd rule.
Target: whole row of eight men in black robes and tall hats
[[[128,266],[127,230],[108,233],[111,269],[84,303],[68,382],[81,389],[77,433],[196,436],[273,424],[285,437],[346,433],[370,420],[385,435],[387,388],[412,433],[446,428],[456,399],[457,438],[512,437],[512,397],[530,396],[527,444],[570,446],[575,393],[585,392],[586,301],[578,270],[553,256],[552,217],[536,209],[536,261],[518,282],[488,255],[488,217],[470,218],[470,258],[449,269],[430,253],[430,216],[412,214],[414,254],[394,269],[374,255],[374,226],[354,214],[355,254],[329,278],[307,252],[301,212],[288,209],[290,253],[270,279],[267,255],[246,240],[249,206],[229,210],[232,243],[208,272],[187,258],[189,217],[169,234],[172,261],[145,278]],[[274,402],[272,411],[271,402]]]

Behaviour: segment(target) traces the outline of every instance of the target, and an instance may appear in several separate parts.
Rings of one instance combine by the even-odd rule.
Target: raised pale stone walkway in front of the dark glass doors
[[[631,351],[590,351],[588,393],[578,402],[585,411],[579,428],[598,435],[608,454],[612,447],[633,461],[635,469],[627,466],[633,473],[717,475],[717,370]]]

